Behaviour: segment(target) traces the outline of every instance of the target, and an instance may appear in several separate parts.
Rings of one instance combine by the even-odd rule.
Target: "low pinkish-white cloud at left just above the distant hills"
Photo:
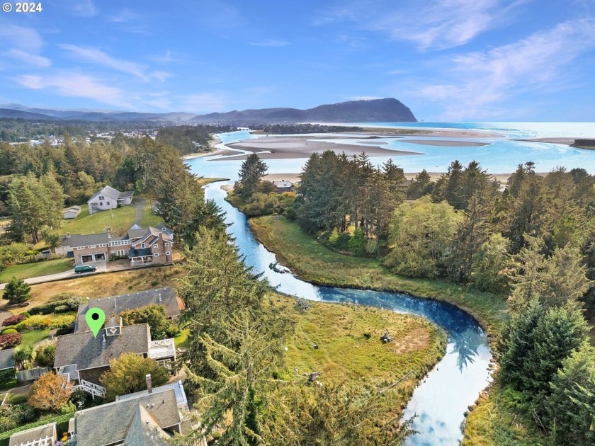
[[[130,108],[120,88],[106,86],[92,76],[60,72],[51,76],[25,74],[15,79],[18,84],[33,90],[50,89],[60,96],[94,99],[100,103]]]

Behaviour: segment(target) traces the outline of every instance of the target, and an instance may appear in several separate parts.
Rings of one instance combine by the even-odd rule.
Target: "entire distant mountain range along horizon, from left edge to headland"
[[[86,122],[200,122],[203,124],[282,124],[295,122],[417,122],[409,108],[395,98],[348,101],[298,108],[261,108],[227,113],[135,113],[95,110],[52,110],[20,104],[0,105],[0,118],[81,120]]]

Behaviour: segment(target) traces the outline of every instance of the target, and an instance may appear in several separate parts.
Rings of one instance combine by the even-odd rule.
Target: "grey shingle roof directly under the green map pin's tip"
[[[91,331],[58,336],[54,367],[76,364],[77,370],[105,367],[111,360],[120,358],[123,353],[149,353],[151,334],[147,324],[124,326],[122,334],[97,338]]]

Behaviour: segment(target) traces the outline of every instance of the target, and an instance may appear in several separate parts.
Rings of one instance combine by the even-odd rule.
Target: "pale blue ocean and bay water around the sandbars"
[[[358,125],[354,123],[353,125]],[[364,125],[364,124],[359,124]],[[501,137],[446,138],[412,136],[403,138],[380,138],[375,142],[386,142],[382,147],[395,151],[409,151],[415,154],[395,156],[373,156],[373,164],[380,165],[392,158],[405,172],[446,172],[452,161],[458,159],[463,165],[478,161],[489,173],[511,173],[519,164],[533,161],[536,171],[548,172],[563,166],[567,169],[584,168],[595,174],[595,151],[574,149],[564,144],[516,141],[519,138],[538,137],[593,137],[595,122],[374,122],[367,127],[395,127],[421,129],[477,130],[497,133]],[[303,136],[303,135],[302,135]],[[261,137],[249,132],[229,132],[220,135],[222,142]],[[408,139],[448,139],[453,141],[485,142],[482,147],[441,147],[407,143]],[[329,139],[329,142],[345,142],[363,145],[353,139]],[[268,173],[299,173],[307,158],[268,159]],[[225,157],[205,156],[188,160],[193,171],[201,176],[223,177],[235,180],[241,160],[226,161]]]

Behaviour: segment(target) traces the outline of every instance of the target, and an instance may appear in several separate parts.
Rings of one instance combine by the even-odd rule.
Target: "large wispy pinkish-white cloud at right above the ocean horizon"
[[[510,98],[572,86],[569,67],[594,48],[595,20],[567,21],[510,45],[444,59],[435,69],[443,79],[421,86],[418,95],[443,103],[447,120],[506,118],[502,104]]]

